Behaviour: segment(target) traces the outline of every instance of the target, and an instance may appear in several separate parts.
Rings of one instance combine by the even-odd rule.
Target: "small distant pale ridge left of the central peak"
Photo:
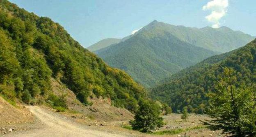
[[[112,44],[117,44],[119,42],[121,42],[122,39],[118,39],[118,38],[106,38],[103,39],[95,44],[92,44],[91,46],[88,46],[87,49],[91,52],[97,51],[99,49],[103,49],[107,46],[110,46]]]

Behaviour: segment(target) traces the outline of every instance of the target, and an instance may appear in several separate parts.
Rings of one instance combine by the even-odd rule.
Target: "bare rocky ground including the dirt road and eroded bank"
[[[68,110],[57,113],[47,106],[11,105],[0,97],[0,136],[7,137],[224,137],[221,131],[202,127],[200,120],[206,115],[190,114],[187,121],[181,114],[163,116],[166,125],[153,132],[179,130],[176,134],[153,135],[123,128],[133,119],[133,114],[123,108],[111,106],[109,99],[90,99],[92,106],[82,105],[68,88],[53,80],[56,95],[66,94]]]

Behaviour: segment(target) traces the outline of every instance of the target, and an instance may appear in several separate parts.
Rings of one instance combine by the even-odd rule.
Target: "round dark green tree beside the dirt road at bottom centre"
[[[130,121],[133,130],[150,132],[155,128],[163,126],[163,118],[160,117],[161,110],[158,104],[149,100],[141,100],[139,109],[135,113],[133,121]]]

